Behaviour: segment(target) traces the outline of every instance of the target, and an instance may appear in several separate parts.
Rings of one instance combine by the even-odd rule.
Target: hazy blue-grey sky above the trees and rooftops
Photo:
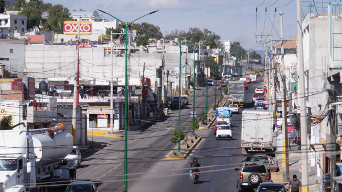
[[[296,1],[292,0],[45,0],[44,2],[52,5],[61,4],[70,11],[80,8],[87,11],[101,9],[124,22],[130,22],[146,13],[159,10],[157,13],[141,18],[137,23],[159,25],[164,35],[165,31],[168,33],[174,29],[188,31],[191,27],[198,27],[201,30],[207,28],[220,35],[222,43],[224,40],[237,41],[245,49],[250,44],[250,48],[257,50],[263,50],[263,47],[256,42],[255,33],[270,34],[271,19],[280,35],[280,15],[268,14],[269,19],[265,14],[256,15],[255,9],[261,5],[258,7],[258,12],[265,13],[267,7],[268,13],[274,13],[275,7],[278,7],[277,13],[283,11],[284,39],[289,40],[290,36],[297,35]],[[287,6],[281,7],[284,5]],[[109,21],[113,21],[109,15],[104,16]],[[273,40],[280,40],[275,29],[272,30]]]

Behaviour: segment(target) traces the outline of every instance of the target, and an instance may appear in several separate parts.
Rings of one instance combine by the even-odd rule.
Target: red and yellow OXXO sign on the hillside
[[[63,25],[63,33],[66,35],[77,35],[79,29],[78,21],[65,21]],[[91,23],[89,21],[81,21],[80,35],[91,34]]]

